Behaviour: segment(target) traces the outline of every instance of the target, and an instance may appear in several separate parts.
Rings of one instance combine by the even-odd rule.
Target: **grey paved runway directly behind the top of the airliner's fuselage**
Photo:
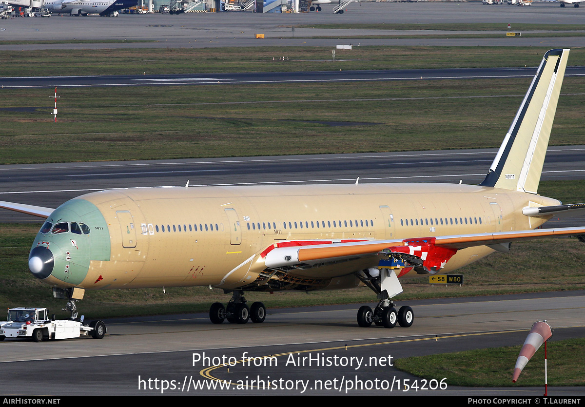
[[[542,180],[585,177],[585,146],[549,147]],[[0,201],[56,208],[111,188],[450,182],[479,184],[497,149],[0,166]],[[39,218],[0,209],[0,222]],[[566,220],[565,220],[566,222]],[[575,220],[579,222],[579,220]],[[559,225],[556,225],[559,227]]]

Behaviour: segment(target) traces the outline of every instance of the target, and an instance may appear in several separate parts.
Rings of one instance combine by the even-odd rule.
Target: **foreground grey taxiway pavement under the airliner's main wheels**
[[[394,329],[358,327],[356,309],[359,305],[269,309],[264,323],[246,325],[212,325],[204,314],[111,320],[106,321],[108,334],[103,340],[84,338],[40,344],[5,340],[0,344],[3,350],[0,367],[10,374],[0,378],[0,394],[39,394],[26,385],[34,375],[36,388],[42,389],[44,395],[326,395],[347,392],[538,396],[542,395],[541,388],[522,388],[521,381],[514,387],[501,389],[448,386],[442,390],[404,392],[402,385],[397,387],[400,382],[396,380],[416,378],[397,371],[390,363],[409,356],[521,345],[532,323],[542,319],[555,328],[552,340],[583,337],[584,303],[585,291],[409,301],[415,313],[414,325]],[[216,367],[230,358],[240,361],[243,356],[271,355],[280,355],[273,365],[240,362]],[[318,365],[314,360],[308,365],[305,359],[302,365],[294,361],[302,356],[325,357],[331,364]],[[516,357],[517,354],[511,359]],[[349,364],[351,358],[352,365]],[[363,359],[358,364],[360,358]],[[512,368],[513,365],[510,370]],[[39,371],[52,374],[34,373]],[[140,389],[139,377],[144,381]],[[201,384],[204,380],[218,385],[218,380],[235,383],[245,381],[246,377],[265,381],[309,380],[311,385],[305,392],[301,392],[301,388],[269,391],[257,386],[239,390],[192,388],[194,383]],[[342,385],[343,380],[348,386],[349,380],[375,381],[376,378],[394,381],[394,389],[366,393],[366,390],[356,391]],[[155,379],[159,381],[158,389],[154,388]],[[437,381],[441,379],[436,378]],[[163,380],[174,381],[177,388],[161,391]],[[342,388],[311,390],[318,380],[336,380]],[[549,387],[549,393],[583,396],[585,388]]]

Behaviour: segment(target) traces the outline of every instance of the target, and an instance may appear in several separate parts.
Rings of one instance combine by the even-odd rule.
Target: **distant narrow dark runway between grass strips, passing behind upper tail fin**
[[[108,86],[178,86],[218,84],[295,84],[299,82],[359,82],[486,78],[531,78],[527,68],[453,68],[372,71],[268,72],[183,75],[100,75],[0,78],[2,88],[70,88]],[[565,76],[583,76],[585,67],[567,67]]]

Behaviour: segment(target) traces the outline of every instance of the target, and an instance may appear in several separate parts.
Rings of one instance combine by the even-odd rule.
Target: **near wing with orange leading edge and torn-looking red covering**
[[[280,242],[264,250],[262,255],[266,267],[282,268],[298,264],[316,265],[329,261],[371,256],[381,252],[397,253],[418,257],[421,260],[420,265],[436,273],[459,249],[490,246],[495,250],[500,250],[502,249],[498,247],[500,244],[551,236],[585,236],[585,226],[417,237],[404,240],[367,240],[326,244],[318,244],[313,241],[308,244],[300,243],[300,246],[290,246],[290,242]],[[285,246],[279,246],[283,244]]]

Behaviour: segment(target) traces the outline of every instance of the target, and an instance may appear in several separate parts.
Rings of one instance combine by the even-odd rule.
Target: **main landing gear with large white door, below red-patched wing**
[[[357,311],[357,325],[368,327],[374,323],[385,328],[393,328],[397,323],[403,328],[412,325],[414,322],[412,308],[408,305],[401,306],[398,311],[394,308],[394,301],[391,298],[402,292],[402,285],[393,270],[369,268],[362,270],[357,277],[376,292],[380,300],[373,310],[367,305],[360,307]]]

